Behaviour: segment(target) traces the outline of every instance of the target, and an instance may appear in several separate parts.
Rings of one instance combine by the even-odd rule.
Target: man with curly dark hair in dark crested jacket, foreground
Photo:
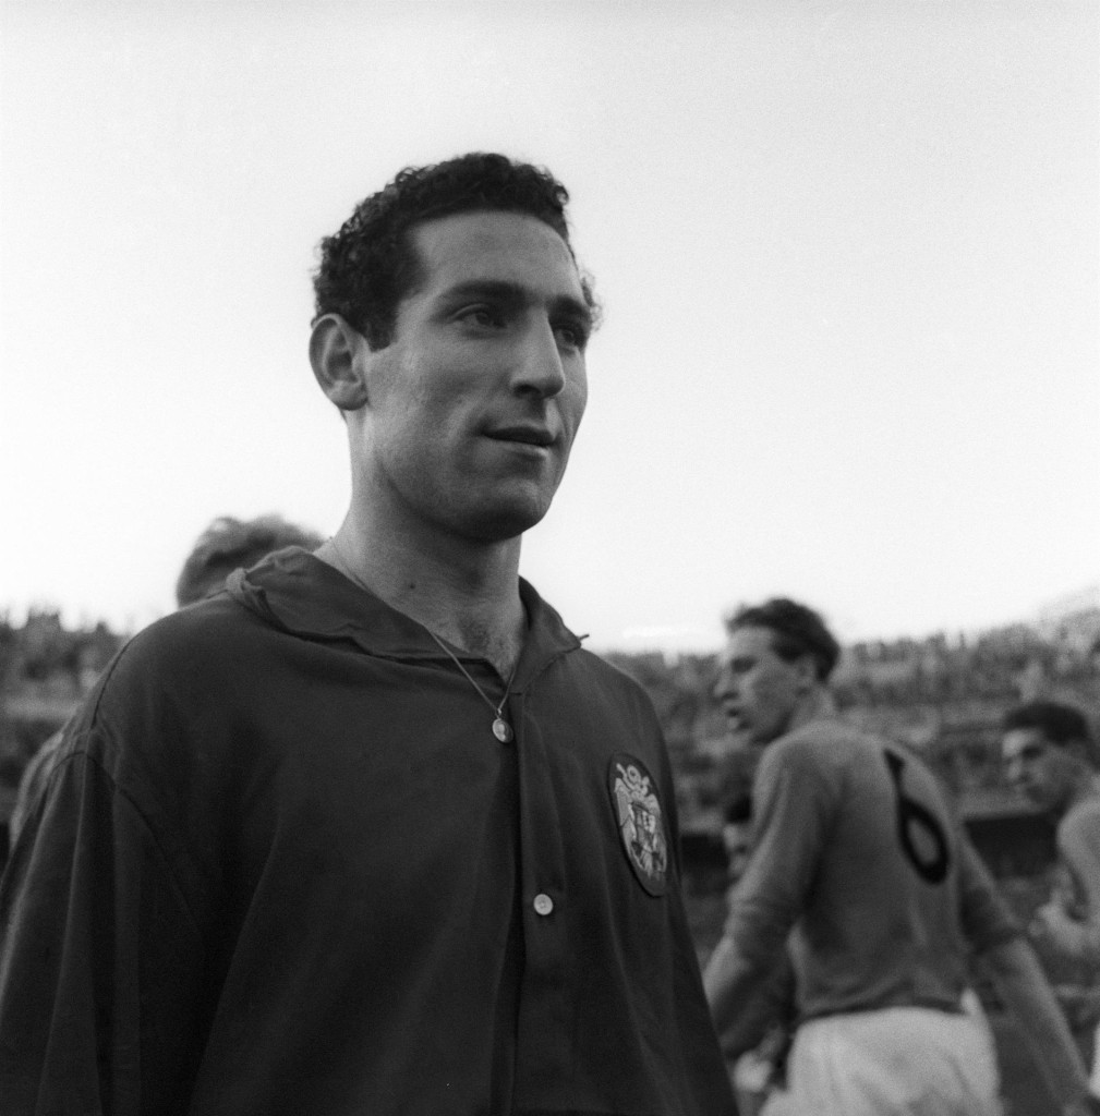
[[[68,727],[0,886],[6,1113],[734,1112],[652,706],[518,576],[586,401],[566,201],[467,155],[323,242],[347,514]]]

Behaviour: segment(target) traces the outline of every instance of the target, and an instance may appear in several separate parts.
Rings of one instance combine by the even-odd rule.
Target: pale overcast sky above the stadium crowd
[[[134,627],[217,514],[348,498],[315,246],[545,164],[605,308],[525,574],[596,648],[1100,580],[1094,0],[0,6],[0,612]]]

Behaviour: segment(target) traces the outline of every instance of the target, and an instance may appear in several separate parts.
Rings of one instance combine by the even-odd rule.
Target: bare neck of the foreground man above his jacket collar
[[[317,557],[507,679],[526,632],[519,541],[431,548],[388,533],[371,537],[345,520]]]

